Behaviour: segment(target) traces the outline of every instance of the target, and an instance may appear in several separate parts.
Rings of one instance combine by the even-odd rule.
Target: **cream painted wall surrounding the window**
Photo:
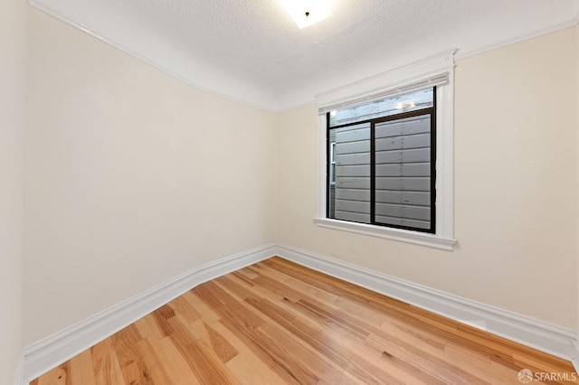
[[[318,228],[317,111],[280,119],[279,241],[577,325],[575,30],[457,62],[454,251]]]

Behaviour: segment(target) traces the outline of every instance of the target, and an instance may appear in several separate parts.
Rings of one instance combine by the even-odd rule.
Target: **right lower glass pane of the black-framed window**
[[[431,229],[431,115],[375,124],[375,222]]]

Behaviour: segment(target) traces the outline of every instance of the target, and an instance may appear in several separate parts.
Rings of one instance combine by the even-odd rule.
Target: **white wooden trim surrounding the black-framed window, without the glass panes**
[[[327,122],[326,114],[318,114],[318,173],[316,218],[314,222],[323,228],[344,230],[373,237],[400,240],[436,249],[452,250],[456,240],[453,212],[454,171],[454,52],[441,52],[422,61],[390,70],[372,78],[357,81],[316,97],[319,110],[339,105],[346,100],[372,99],[384,89],[403,88],[404,85],[428,79],[446,72],[449,83],[437,87],[436,110],[436,234],[413,230],[401,230],[365,223],[332,220],[326,217],[327,200]]]

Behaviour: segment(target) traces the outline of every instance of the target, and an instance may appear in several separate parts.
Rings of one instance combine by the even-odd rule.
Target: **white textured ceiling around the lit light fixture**
[[[333,0],[299,30],[279,0],[30,0],[181,80],[271,111],[384,70],[577,23],[578,0]]]

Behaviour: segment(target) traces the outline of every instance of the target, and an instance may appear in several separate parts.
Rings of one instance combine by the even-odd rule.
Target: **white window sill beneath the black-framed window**
[[[453,245],[456,243],[456,239],[443,238],[438,235],[373,226],[365,223],[337,221],[327,218],[315,218],[314,223],[319,227],[327,229],[343,230],[372,237],[400,240],[402,242],[413,243],[414,245],[421,245],[434,249],[452,250]]]

